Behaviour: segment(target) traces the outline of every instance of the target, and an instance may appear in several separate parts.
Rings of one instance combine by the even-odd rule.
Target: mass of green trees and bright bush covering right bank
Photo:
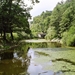
[[[50,27],[54,27],[55,36],[53,38],[62,38],[63,43],[69,46],[75,46],[75,0],[67,0],[56,5],[50,16]],[[46,38],[51,38],[51,29],[47,32]],[[54,32],[52,31],[52,32]]]

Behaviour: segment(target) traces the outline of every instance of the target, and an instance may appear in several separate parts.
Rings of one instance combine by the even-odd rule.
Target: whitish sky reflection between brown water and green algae
[[[31,56],[31,59],[34,59],[35,53],[34,51],[30,48],[28,52],[28,56]],[[34,60],[30,60],[30,65],[28,66],[27,73],[28,75],[60,75],[62,72],[53,72],[53,71],[45,71],[43,70],[43,67],[46,65],[52,65],[52,61],[44,64],[36,64]]]

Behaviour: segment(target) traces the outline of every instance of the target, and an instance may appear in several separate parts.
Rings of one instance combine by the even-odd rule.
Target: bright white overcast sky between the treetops
[[[39,0],[39,1],[40,3],[35,4],[33,6],[33,9],[30,11],[30,14],[32,17],[40,15],[43,11],[46,11],[46,10],[49,10],[49,11],[53,10],[56,4],[58,2],[61,2],[61,0]]]

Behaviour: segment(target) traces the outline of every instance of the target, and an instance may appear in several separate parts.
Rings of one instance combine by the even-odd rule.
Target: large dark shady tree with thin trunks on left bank
[[[31,0],[34,4],[38,0]],[[3,39],[6,40],[6,33],[11,34],[14,30],[25,31],[30,33],[28,19],[31,17],[29,10],[22,0],[1,0],[0,1],[0,33],[4,34]]]

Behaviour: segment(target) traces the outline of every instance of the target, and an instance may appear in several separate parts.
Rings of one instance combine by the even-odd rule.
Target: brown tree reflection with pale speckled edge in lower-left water
[[[22,75],[22,73],[27,73],[30,61],[27,57],[22,57],[22,54],[19,53],[21,52],[14,52],[13,59],[0,61],[0,75]]]

